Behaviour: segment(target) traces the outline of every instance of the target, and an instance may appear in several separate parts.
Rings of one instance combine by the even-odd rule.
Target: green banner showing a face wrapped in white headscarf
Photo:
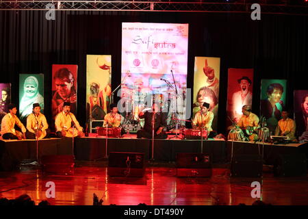
[[[25,122],[32,113],[33,104],[40,104],[40,112],[44,113],[44,75],[19,75],[19,115]]]

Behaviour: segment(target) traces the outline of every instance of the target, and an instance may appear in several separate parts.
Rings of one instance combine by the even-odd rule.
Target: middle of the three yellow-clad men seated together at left
[[[40,113],[40,104],[33,104],[33,113],[27,116],[27,132],[25,134],[27,139],[42,139],[49,138],[50,130],[44,114]]]

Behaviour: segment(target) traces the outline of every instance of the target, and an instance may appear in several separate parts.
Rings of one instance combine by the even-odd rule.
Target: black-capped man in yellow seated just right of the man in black
[[[192,120],[193,129],[206,129],[209,132],[209,136],[214,136],[211,129],[211,123],[214,119],[214,113],[209,111],[209,103],[203,103],[200,106],[200,110],[194,115]]]

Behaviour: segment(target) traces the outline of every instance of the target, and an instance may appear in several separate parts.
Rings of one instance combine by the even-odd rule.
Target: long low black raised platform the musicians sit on
[[[226,164],[232,155],[232,142],[221,139],[181,140],[169,136],[166,140],[154,140],[155,162],[175,162],[177,153],[207,153],[212,162]],[[106,144],[107,141],[107,144]],[[233,155],[262,155],[264,164],[272,165],[279,155],[305,153],[308,144],[262,144],[261,142],[233,142]],[[74,149],[73,149],[74,147]],[[74,153],[73,153],[74,150]],[[107,153],[106,153],[107,151]],[[91,137],[51,138],[38,141],[38,158],[42,155],[75,155],[77,161],[99,161],[107,159],[110,152],[144,153],[152,158],[152,140],[137,139],[134,134],[123,138]],[[11,170],[23,161],[36,161],[36,140],[0,140],[1,168]]]

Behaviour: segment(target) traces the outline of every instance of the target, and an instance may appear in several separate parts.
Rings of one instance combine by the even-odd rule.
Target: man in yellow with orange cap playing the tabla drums
[[[244,105],[242,107],[242,113],[240,120],[238,121],[238,126],[241,129],[246,129],[246,134],[249,140],[258,140],[257,129],[259,128],[259,117],[251,112],[250,105]]]

